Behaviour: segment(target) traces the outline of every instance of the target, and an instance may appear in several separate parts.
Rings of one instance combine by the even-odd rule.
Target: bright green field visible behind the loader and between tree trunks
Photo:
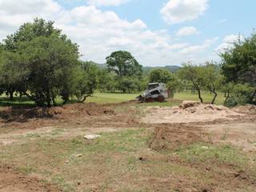
[[[137,94],[122,94],[122,93],[99,93],[95,92],[92,97],[87,98],[86,102],[98,102],[98,103],[114,103],[114,102],[127,102],[130,100],[134,100],[139,93]],[[203,92],[202,98],[204,102],[210,102],[213,96],[209,93]],[[180,100],[193,100],[198,101],[198,95],[192,94],[189,91],[178,92],[174,94],[174,99]],[[74,100],[75,102],[75,100]],[[216,104],[223,104],[224,102],[224,94],[218,93],[218,97],[216,98]],[[62,104],[62,99],[57,98],[57,103],[59,105]],[[5,95],[2,95],[0,98],[0,106],[33,106],[34,102],[28,100],[26,97],[23,97],[21,100],[18,97],[14,98],[13,102],[10,102],[9,98]],[[170,106],[171,103],[150,103],[150,106]]]

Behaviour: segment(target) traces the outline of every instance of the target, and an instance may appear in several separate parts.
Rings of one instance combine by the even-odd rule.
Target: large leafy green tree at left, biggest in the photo
[[[67,101],[74,94],[78,45],[53,25],[35,19],[3,41],[0,78],[6,93],[21,91],[38,106],[51,106],[57,95]]]

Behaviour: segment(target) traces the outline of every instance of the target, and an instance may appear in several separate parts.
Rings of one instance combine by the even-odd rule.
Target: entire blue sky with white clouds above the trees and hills
[[[219,61],[238,36],[256,27],[255,0],[0,0],[0,40],[34,18],[79,45],[98,63],[127,50],[143,66]]]

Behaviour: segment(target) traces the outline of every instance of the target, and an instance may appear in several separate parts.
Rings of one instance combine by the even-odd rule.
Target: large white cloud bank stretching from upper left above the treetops
[[[206,51],[210,47],[205,45],[209,41],[201,48],[178,42],[167,30],[153,31],[140,19],[127,21],[95,6],[67,10],[54,0],[0,0],[0,7],[5,7],[0,9],[0,40],[33,18],[54,20],[55,26],[78,43],[83,60],[102,63],[112,51],[128,50],[144,66],[179,65],[191,57],[202,59],[194,50]]]

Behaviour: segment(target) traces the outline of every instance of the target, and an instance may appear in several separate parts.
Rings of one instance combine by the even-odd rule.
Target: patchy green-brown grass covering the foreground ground
[[[22,145],[2,146],[0,158],[3,164],[14,165],[25,174],[38,174],[47,178],[44,182],[71,192],[175,191],[176,178],[207,186],[213,182],[211,175],[193,165],[203,163],[216,171],[221,169],[219,164],[243,169],[249,163],[245,154],[231,146],[207,145],[206,149],[202,148],[206,144],[195,143],[168,153],[149,150],[151,135],[148,129],[126,129],[102,133],[102,138],[90,141],[82,136],[66,140],[38,138]],[[184,162],[170,161],[173,157]],[[172,175],[175,180],[166,182]]]

